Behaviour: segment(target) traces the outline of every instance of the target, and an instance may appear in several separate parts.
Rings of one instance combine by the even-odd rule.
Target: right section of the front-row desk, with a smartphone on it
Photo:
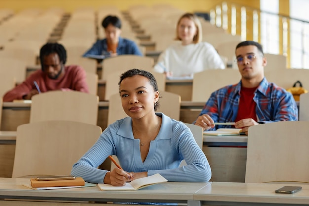
[[[194,204],[230,206],[308,206],[309,185],[295,194],[277,194],[274,191],[289,184],[212,182],[194,194]],[[291,184],[290,184],[291,185]],[[295,184],[293,184],[295,186]],[[192,203],[193,204],[193,203]]]

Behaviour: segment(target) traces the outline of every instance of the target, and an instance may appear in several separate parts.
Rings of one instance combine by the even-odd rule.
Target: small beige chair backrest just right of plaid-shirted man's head
[[[279,54],[264,54],[267,64],[264,69],[267,70],[283,70],[286,69],[286,56]]]

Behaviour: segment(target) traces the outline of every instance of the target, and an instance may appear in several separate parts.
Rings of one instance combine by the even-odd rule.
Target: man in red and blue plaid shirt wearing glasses
[[[292,94],[264,77],[267,61],[259,43],[239,43],[236,61],[241,74],[240,82],[213,92],[195,125],[204,130],[215,130],[227,126],[215,126],[214,122],[235,122],[232,127],[242,128],[242,132],[248,134],[248,128],[253,125],[298,120],[298,109]]]

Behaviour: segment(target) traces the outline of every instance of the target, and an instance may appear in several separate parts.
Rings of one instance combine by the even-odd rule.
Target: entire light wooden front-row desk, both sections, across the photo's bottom
[[[60,190],[31,190],[22,184],[29,184],[29,179],[0,178],[0,205],[40,205],[48,201],[52,205],[81,205],[67,201],[102,202],[170,202],[187,203],[188,206],[233,205],[233,206],[295,206],[309,205],[309,185],[301,184],[302,190],[295,194],[277,194],[274,191],[284,185],[266,183],[190,183],[165,182],[137,191],[100,191],[97,186]],[[27,199],[28,201],[23,201]],[[31,201],[31,202],[29,202]],[[37,204],[36,204],[37,203]],[[95,203],[91,203],[94,205]],[[90,205],[90,204],[89,204]],[[110,204],[108,204],[110,205]]]

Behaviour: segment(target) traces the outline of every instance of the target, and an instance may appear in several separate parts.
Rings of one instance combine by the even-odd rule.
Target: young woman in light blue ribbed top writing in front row
[[[163,113],[155,113],[160,94],[154,76],[131,69],[121,75],[119,85],[122,107],[129,117],[103,131],[73,165],[72,175],[114,186],[156,173],[168,181],[209,181],[209,163],[190,129]],[[109,155],[117,156],[123,170],[97,169]],[[183,159],[187,165],[179,167]]]

